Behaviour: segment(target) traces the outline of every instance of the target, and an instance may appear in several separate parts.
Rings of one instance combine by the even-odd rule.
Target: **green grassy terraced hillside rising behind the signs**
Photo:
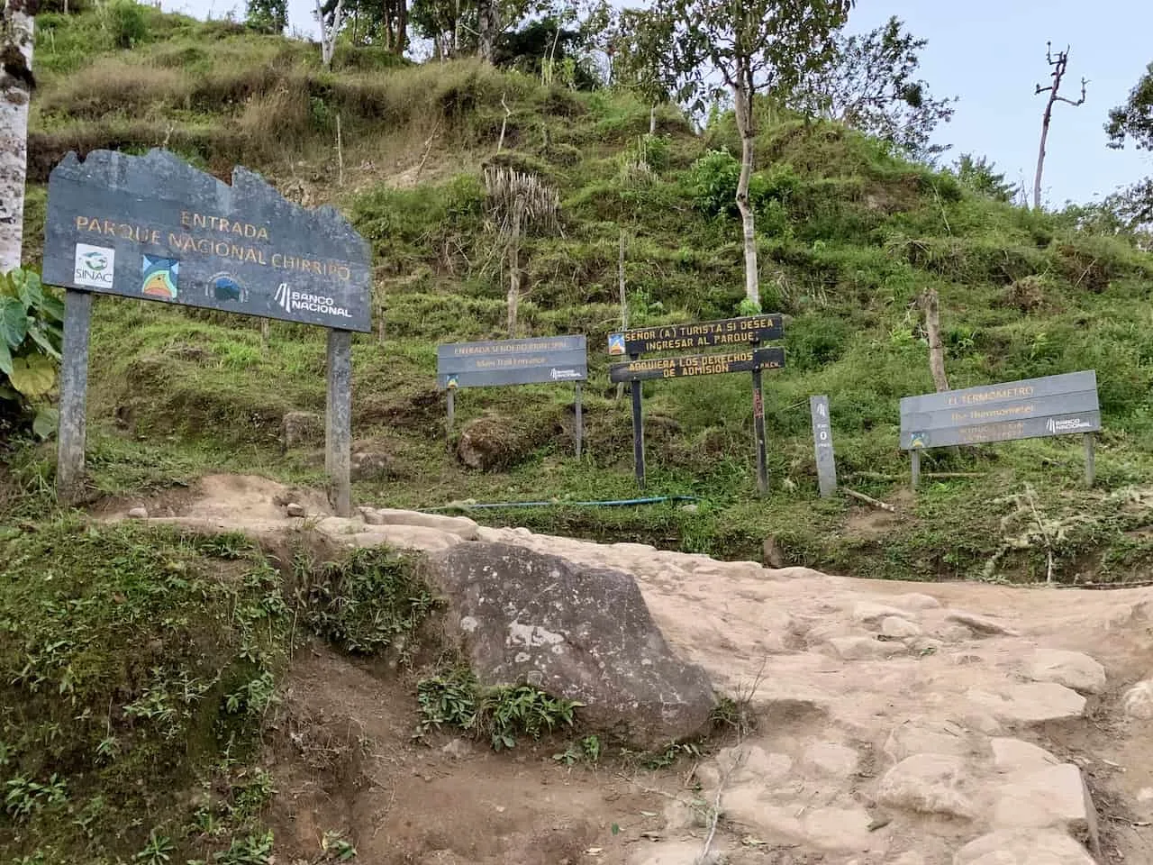
[[[1153,257],[1057,217],[982,197],[842,127],[774,115],[759,136],[762,299],[786,314],[786,369],[767,377],[771,494],[758,498],[746,376],[647,386],[649,492],[676,505],[582,509],[635,495],[628,403],[608,382],[618,256],[633,325],[736,314],[739,226],[725,204],[732,125],[701,135],[671,110],[648,136],[627,93],[574,92],[459,61],[398,67],[317,52],[223,22],[146,10],[133,48],[105,12],[38,21],[28,263],[43,183],[69,149],[166,145],[227,178],[261,171],[286,195],[331,202],[376,254],[378,334],[354,340],[355,496],[397,506],[555,498],[481,519],[721,557],[776,539],[798,564],[905,578],[1124,581],[1150,562],[1143,489],[1153,468]],[[340,119],[342,150],[336,146]],[[498,141],[504,142],[498,153]],[[507,273],[485,219],[484,165],[537,174],[560,194],[562,231],[532,238],[519,336],[586,333],[587,447],[572,456],[571,391],[466,391],[458,434],[490,415],[504,465],[466,471],[444,437],[438,343],[503,333]],[[342,183],[339,182],[342,179]],[[719,212],[717,212],[719,211]],[[897,449],[898,400],[933,389],[915,298],[941,296],[952,386],[1095,369],[1106,431],[1098,488],[1079,488],[1080,443],[934,451],[914,498]],[[323,412],[323,331],[157,303],[96,304],[90,396],[92,495],[187,482],[212,469],[323,482],[316,445],[281,449],[287,412]],[[900,513],[816,498],[808,397],[828,393],[838,468]],[[8,510],[44,506],[51,447],[21,447]]]

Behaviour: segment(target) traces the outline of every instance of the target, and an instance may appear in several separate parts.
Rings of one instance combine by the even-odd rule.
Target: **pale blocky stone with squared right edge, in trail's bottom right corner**
[[[1095,850],[1097,811],[1080,769],[1070,762],[1013,777],[1000,791],[993,820],[1005,828],[1060,827]]]

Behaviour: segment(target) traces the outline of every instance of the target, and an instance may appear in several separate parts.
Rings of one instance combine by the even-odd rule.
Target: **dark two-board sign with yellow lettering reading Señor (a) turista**
[[[756,439],[756,487],[763,495],[769,488],[764,453],[764,398],[761,370],[782,369],[785,349],[761,346],[784,336],[784,319],[777,313],[722,318],[715,322],[672,324],[609,334],[609,355],[627,355],[628,361],[609,367],[613,382],[631,382],[633,393],[633,462],[636,483],[645,489],[645,419],[641,412],[641,382],[655,378],[688,378],[722,373],[753,375],[753,435]],[[677,352],[724,347],[714,354],[649,358],[642,353]]]

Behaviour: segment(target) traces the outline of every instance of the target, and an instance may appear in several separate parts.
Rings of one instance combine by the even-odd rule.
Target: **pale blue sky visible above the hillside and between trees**
[[[223,17],[244,0],[161,0],[169,12]],[[626,5],[618,0],[617,5]],[[633,3],[627,3],[633,5]],[[643,5],[643,3],[635,3]],[[291,27],[317,32],[310,0],[288,0]],[[1054,110],[1046,158],[1043,195],[1055,205],[1088,201],[1118,186],[1153,174],[1153,158],[1131,148],[1106,148],[1102,130],[1109,108],[1122,104],[1147,63],[1153,61],[1153,2],[1150,0],[858,0],[851,31],[867,31],[890,15],[928,39],[921,76],[937,96],[959,96],[952,122],[937,133],[952,144],[948,161],[963,152],[985,155],[1007,179],[1032,189],[1045,96],[1033,85],[1048,84],[1045,43],[1071,46],[1068,84],[1076,98],[1088,78],[1080,107]],[[1000,22],[996,24],[986,22]],[[1068,89],[1067,89],[1068,88]]]

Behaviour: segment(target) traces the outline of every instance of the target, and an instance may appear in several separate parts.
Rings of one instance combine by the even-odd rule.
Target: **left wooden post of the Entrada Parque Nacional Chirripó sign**
[[[60,426],[56,444],[56,497],[74,504],[84,489],[88,412],[88,345],[92,294],[65,292],[65,334],[60,361]]]

